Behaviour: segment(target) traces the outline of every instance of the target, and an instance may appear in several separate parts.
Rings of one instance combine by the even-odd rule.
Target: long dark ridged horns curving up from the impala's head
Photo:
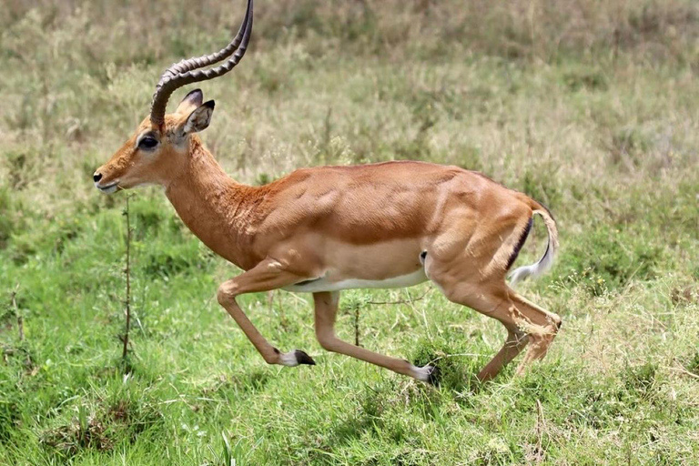
[[[153,94],[153,100],[150,104],[150,121],[157,126],[161,126],[165,123],[167,99],[177,88],[223,76],[233,69],[234,66],[238,65],[238,62],[245,55],[245,51],[248,48],[251,33],[252,0],[248,0],[248,8],[245,12],[243,23],[240,25],[238,34],[228,46],[209,56],[198,56],[187,60],[181,60],[167,68],[165,73],[160,76],[160,81],[157,83],[156,92]],[[231,54],[233,54],[233,56],[228,58]],[[198,69],[218,63],[224,58],[228,58],[228,60],[222,65],[207,70]]]

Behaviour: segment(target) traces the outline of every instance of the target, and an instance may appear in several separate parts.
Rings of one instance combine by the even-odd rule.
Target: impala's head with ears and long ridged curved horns
[[[214,101],[204,102],[201,90],[191,91],[166,115],[167,100],[177,88],[223,76],[238,65],[248,48],[252,32],[252,0],[238,34],[218,53],[182,60],[167,68],[160,76],[150,106],[150,116],[138,125],[136,132],[93,175],[95,187],[105,194],[118,189],[141,185],[167,186],[186,166],[193,135],[208,127]],[[202,69],[207,66],[221,65]]]

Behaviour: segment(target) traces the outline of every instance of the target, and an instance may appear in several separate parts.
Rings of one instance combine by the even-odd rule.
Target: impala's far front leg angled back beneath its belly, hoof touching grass
[[[433,381],[434,367],[432,366],[419,368],[407,360],[390,358],[338,339],[335,336],[334,328],[338,312],[339,292],[313,293],[313,303],[315,305],[316,338],[324,349],[370,362],[399,374],[409,375],[417,380]]]

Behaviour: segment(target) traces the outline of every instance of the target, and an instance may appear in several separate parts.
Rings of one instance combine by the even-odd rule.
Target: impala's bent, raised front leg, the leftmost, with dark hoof
[[[245,293],[256,293],[279,289],[287,285],[299,283],[309,279],[301,277],[284,269],[281,263],[275,259],[265,259],[254,268],[250,268],[235,279],[229,279],[218,287],[218,303],[230,314],[238,327],[248,337],[250,342],[258,349],[268,364],[281,364],[282,366],[298,366],[299,364],[314,365],[315,361],[304,351],[296,349],[283,353],[269,344],[268,340],[259,333],[259,330],[250,322],[248,316],[236,302],[236,297]]]

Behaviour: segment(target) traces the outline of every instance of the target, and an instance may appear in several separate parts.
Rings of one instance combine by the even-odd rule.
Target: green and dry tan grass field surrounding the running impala
[[[146,117],[162,70],[224,45],[242,9],[0,9],[1,464],[699,462],[693,0],[259,1],[248,55],[202,86],[218,104],[202,136],[228,173],[481,170],[557,218],[555,268],[520,290],[562,331],[524,377],[479,384],[499,323],[427,284],[344,292],[339,336],[437,360],[434,388],[324,352],[309,296],[248,295],[270,341],[318,362],[267,366],[215,298],[238,270],[148,187],[129,192],[122,360],[127,193],[102,196],[91,175]],[[518,263],[544,238],[537,222]]]

